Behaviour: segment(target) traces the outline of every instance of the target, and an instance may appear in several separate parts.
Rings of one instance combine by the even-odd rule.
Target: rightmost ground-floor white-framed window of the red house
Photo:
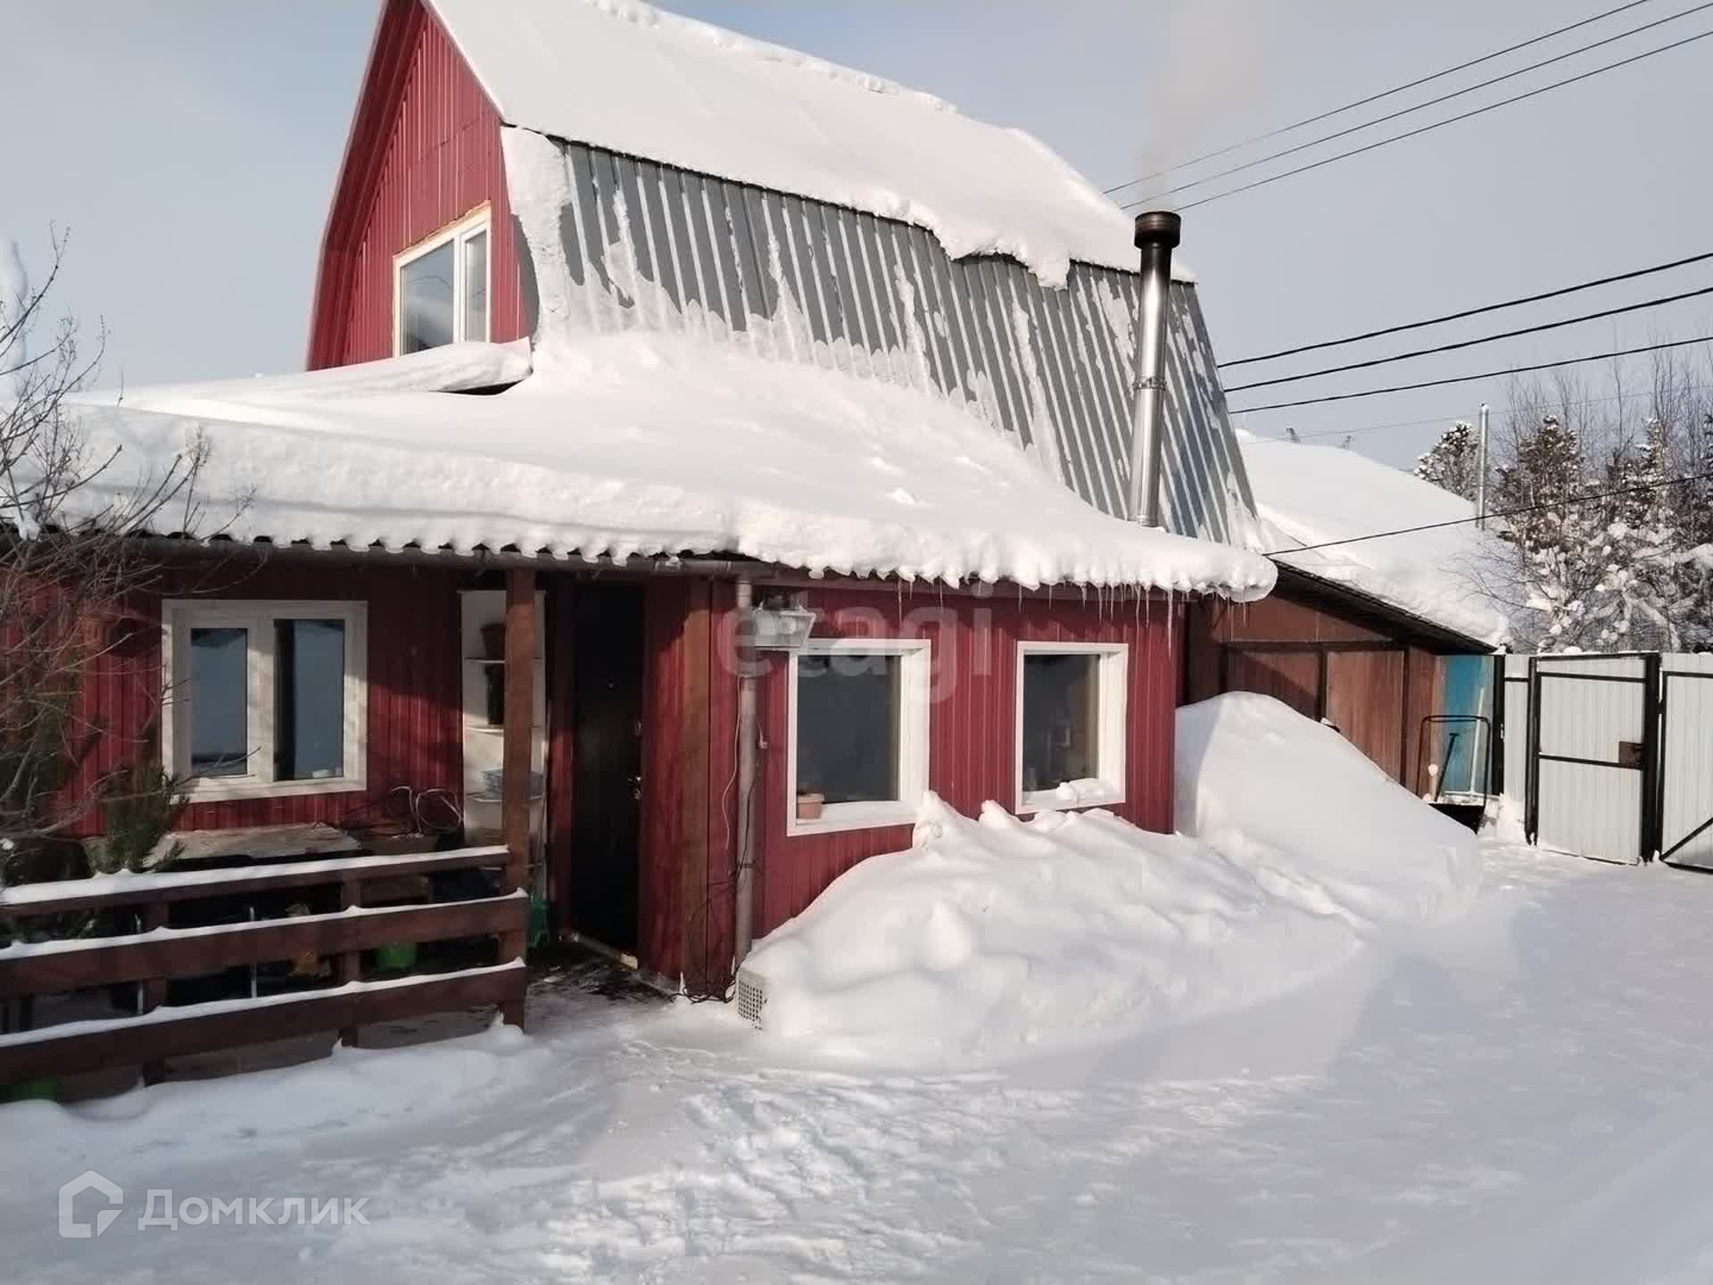
[[[1122,642],[1018,644],[1018,807],[1124,802]]]

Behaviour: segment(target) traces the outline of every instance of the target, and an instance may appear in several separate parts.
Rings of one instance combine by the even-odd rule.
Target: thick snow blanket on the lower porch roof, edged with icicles
[[[206,524],[313,547],[737,553],[810,572],[1262,596],[1252,552],[1108,517],[968,411],[682,334],[461,344],[81,399],[103,487],[199,430]],[[199,531],[206,533],[206,531]]]

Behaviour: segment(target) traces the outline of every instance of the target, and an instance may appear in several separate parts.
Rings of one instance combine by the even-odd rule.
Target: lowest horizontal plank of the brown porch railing
[[[199,1004],[182,1013],[116,1023],[48,1026],[26,1038],[0,1038],[0,1085],[53,1074],[137,1066],[317,1031],[399,1021],[430,1013],[495,1004],[522,1021],[528,971],[521,965],[480,968],[358,989],[320,990],[248,1006]],[[202,1011],[199,1011],[202,1009]],[[212,1011],[209,1011],[212,1009]]]

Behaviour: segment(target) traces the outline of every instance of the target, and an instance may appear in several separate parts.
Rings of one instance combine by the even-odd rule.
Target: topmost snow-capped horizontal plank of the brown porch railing
[[[409,853],[404,857],[337,857],[331,860],[269,865],[264,869],[242,867],[236,870],[185,870],[108,876],[99,879],[63,879],[51,884],[24,884],[22,888],[0,889],[0,918],[58,915],[65,910],[197,901],[209,896],[262,893],[278,888],[341,884],[348,879],[363,882],[367,879],[391,879],[404,874],[500,867],[505,860],[505,848],[486,846],[459,848],[457,852]]]

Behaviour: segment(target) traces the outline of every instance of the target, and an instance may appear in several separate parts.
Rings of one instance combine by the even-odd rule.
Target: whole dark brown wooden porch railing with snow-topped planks
[[[0,1086],[41,1076],[139,1066],[147,1081],[164,1074],[168,1057],[214,1052],[317,1031],[341,1031],[430,1013],[497,1006],[507,1023],[524,1021],[524,941],[529,900],[522,891],[428,905],[367,905],[401,881],[507,865],[507,850],[406,857],[341,857],[266,869],[111,876],[0,889],[0,920],[14,927],[70,911],[128,911],[139,932],[0,946],[0,1001],[86,987],[135,983],[135,1016],[69,1021],[0,1035]],[[505,886],[502,874],[500,886]],[[257,918],[207,927],[168,927],[170,908],[185,901],[236,901],[288,889],[337,889],[339,910],[288,918]],[[111,915],[104,918],[111,920]],[[99,920],[98,920],[99,922]],[[397,942],[493,937],[497,963],[451,973],[418,973],[365,982],[363,951]],[[331,961],[331,987],[279,995],[166,1006],[171,978],[226,968],[291,961]]]

